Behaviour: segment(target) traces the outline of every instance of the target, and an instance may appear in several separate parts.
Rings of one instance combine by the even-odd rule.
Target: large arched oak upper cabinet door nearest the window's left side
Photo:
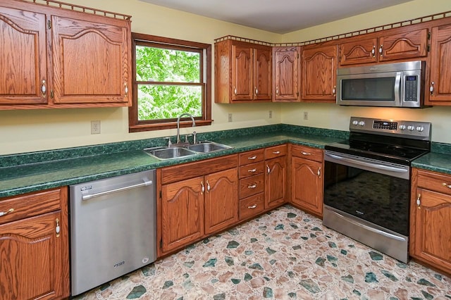
[[[127,27],[52,17],[54,103],[123,103],[130,98]]]

